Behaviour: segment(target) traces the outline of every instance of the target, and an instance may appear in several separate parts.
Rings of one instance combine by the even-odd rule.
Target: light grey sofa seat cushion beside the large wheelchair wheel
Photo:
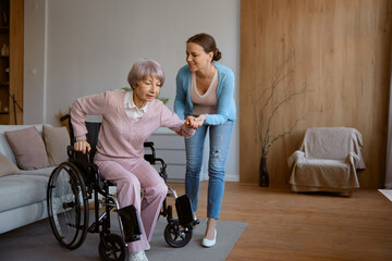
[[[9,175],[0,182],[0,211],[39,202],[47,197],[49,177],[40,175]]]

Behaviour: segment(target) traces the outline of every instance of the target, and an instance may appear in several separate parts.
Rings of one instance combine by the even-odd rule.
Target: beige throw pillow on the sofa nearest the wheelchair
[[[70,145],[70,135],[66,127],[44,125],[42,137],[51,166],[68,160],[66,147]]]

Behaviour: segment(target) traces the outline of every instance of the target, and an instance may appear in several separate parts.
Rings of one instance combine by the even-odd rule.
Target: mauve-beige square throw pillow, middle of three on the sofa
[[[15,154],[19,167],[35,170],[49,166],[42,137],[35,127],[5,132],[4,134]]]

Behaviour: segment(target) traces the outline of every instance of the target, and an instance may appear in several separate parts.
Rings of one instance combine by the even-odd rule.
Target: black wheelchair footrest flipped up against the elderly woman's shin
[[[135,206],[131,204],[117,210],[121,217],[126,243],[137,241],[140,239],[140,223]]]

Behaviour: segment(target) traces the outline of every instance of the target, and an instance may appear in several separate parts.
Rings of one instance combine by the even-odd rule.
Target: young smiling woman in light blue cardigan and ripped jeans
[[[236,119],[233,98],[234,74],[217,61],[221,52],[212,36],[198,34],[186,41],[186,62],[176,76],[174,112],[188,116],[196,134],[185,139],[185,192],[197,211],[200,169],[207,130],[210,152],[208,162],[207,229],[201,245],[212,247],[217,238],[217,220],[220,215],[224,190],[224,163]]]

